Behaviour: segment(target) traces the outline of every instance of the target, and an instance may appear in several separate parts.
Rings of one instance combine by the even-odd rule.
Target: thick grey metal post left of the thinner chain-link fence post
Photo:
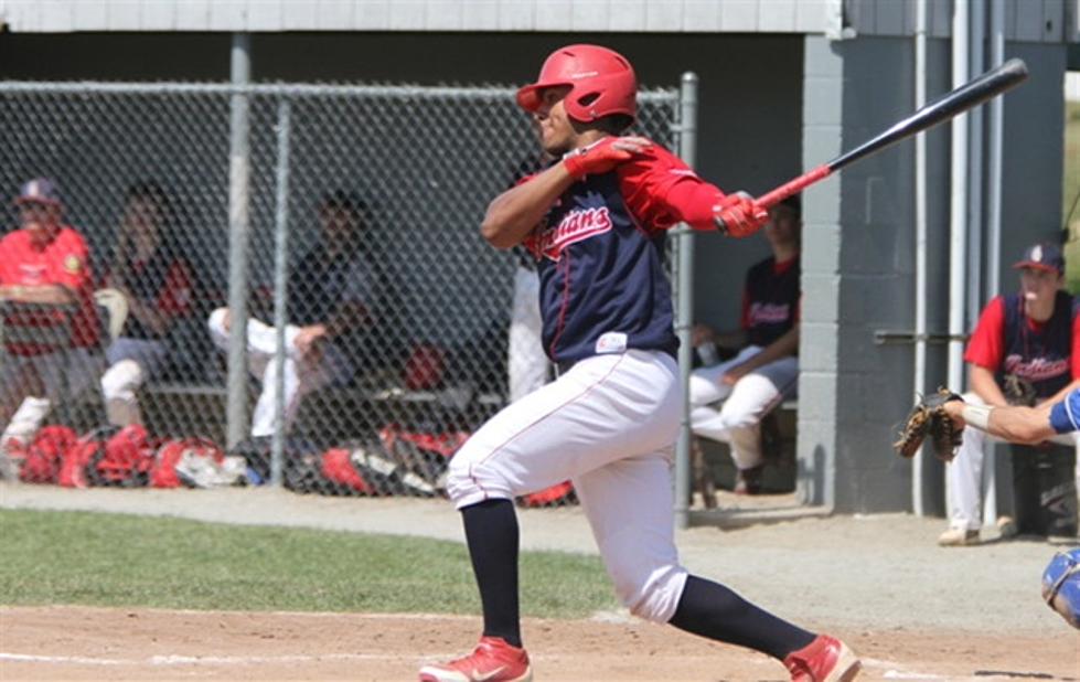
[[[233,34],[233,85],[247,85],[252,77],[250,36]],[[233,447],[247,437],[247,262],[250,232],[250,148],[248,146],[248,95],[229,97],[228,141],[228,383],[227,437]]]

